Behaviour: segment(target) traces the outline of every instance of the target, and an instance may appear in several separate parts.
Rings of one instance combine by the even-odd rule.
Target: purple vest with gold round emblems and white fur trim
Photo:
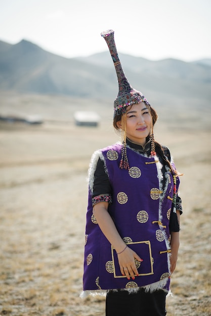
[[[168,228],[173,197],[173,177],[157,156],[145,157],[127,148],[130,170],[119,168],[121,144],[94,153],[90,168],[89,203],[83,290],[131,289],[146,287],[153,291],[169,289],[170,232]],[[92,211],[94,172],[99,159],[105,162],[112,186],[108,212],[124,240],[144,260],[136,261],[139,276],[128,280],[121,275],[115,249],[101,232]],[[162,176],[166,185],[162,187]]]

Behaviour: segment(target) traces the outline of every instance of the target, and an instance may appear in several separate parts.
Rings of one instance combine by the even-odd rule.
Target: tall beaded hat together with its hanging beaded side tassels
[[[132,106],[133,104],[138,104],[140,102],[144,102],[148,108],[150,108],[150,104],[144,95],[134,89],[128,79],[126,78],[123,69],[121,67],[121,63],[119,61],[116,44],[114,41],[114,31],[107,30],[101,33],[101,36],[105,39],[113,63],[116,70],[116,75],[118,79],[119,91],[116,99],[114,100],[114,116],[121,114],[121,122],[122,122],[122,149],[121,149],[121,161],[119,168],[129,170],[129,162],[128,157],[126,155],[126,107]],[[150,111],[151,112],[151,111]],[[151,113],[150,113],[151,114]],[[151,126],[151,156],[156,154],[155,152],[155,143],[154,143],[154,135],[153,135],[153,126]]]

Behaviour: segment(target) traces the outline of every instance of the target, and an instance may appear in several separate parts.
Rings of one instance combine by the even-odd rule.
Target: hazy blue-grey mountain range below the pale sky
[[[120,53],[119,58],[131,85],[150,102],[210,106],[211,60],[150,61]],[[118,84],[109,51],[67,59],[26,40],[0,41],[0,90],[114,99]]]

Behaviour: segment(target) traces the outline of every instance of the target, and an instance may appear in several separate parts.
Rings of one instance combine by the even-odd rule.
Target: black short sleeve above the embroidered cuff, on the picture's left
[[[108,175],[105,171],[104,162],[99,158],[97,167],[94,174],[94,186],[93,186],[93,195],[92,197],[109,194],[111,195],[112,189]]]

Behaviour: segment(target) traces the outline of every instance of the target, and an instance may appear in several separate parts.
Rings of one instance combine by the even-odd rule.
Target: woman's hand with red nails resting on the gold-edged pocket
[[[132,277],[134,280],[135,276],[139,275],[136,268],[135,259],[140,262],[142,262],[143,259],[140,258],[140,256],[128,246],[121,253],[117,254],[117,256],[121,274],[123,276],[125,275],[128,280],[130,280],[130,277]]]

